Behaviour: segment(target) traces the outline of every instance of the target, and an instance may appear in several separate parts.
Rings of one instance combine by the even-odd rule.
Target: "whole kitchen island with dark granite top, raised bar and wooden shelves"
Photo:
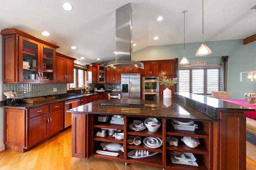
[[[86,158],[90,156],[116,160],[132,164],[154,166],[163,169],[246,169],[246,111],[254,109],[222,100],[189,93],[175,93],[174,98],[159,99],[159,106],[102,106],[106,100],[98,100],[79,106],[72,112],[72,156]],[[98,122],[99,115],[122,115],[124,124],[112,124],[110,121]],[[156,132],[144,129],[134,131],[129,124],[134,120],[144,120],[155,117],[161,122]],[[180,121],[194,120],[198,125],[195,131],[175,130],[171,119]],[[118,140],[111,135],[95,136],[101,128],[118,129],[124,132],[124,139]],[[142,137],[138,146],[129,145],[129,136]],[[172,135],[179,139],[178,147],[166,143],[166,138]],[[190,148],[180,137],[197,137],[200,145]],[[156,149],[143,144],[145,137],[158,137],[163,143]],[[124,145],[124,152],[116,151],[118,156],[108,156],[96,153],[102,150],[101,142],[119,143]],[[147,158],[132,158],[133,150],[147,150],[158,152]],[[198,166],[174,164],[170,158],[170,151],[191,152],[196,157]]]

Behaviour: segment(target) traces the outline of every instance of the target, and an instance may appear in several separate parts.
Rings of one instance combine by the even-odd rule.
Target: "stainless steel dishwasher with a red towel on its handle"
[[[72,122],[72,113],[67,112],[67,110],[72,109],[76,106],[80,106],[80,98],[65,101],[64,129],[70,127]]]

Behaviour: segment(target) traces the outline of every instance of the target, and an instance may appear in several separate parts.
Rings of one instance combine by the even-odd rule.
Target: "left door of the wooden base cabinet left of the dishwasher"
[[[48,114],[39,115],[28,119],[28,141],[29,146],[46,139],[47,126],[50,120],[47,119]],[[48,120],[48,121],[47,121]]]

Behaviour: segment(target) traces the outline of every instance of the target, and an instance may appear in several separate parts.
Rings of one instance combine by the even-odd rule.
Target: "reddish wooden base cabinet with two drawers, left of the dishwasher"
[[[6,150],[25,152],[63,129],[63,102],[32,109],[4,108]]]

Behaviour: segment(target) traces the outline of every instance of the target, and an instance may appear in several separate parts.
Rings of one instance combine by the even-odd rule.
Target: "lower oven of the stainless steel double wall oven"
[[[159,106],[159,92],[142,92],[142,99],[145,100],[145,106]]]

